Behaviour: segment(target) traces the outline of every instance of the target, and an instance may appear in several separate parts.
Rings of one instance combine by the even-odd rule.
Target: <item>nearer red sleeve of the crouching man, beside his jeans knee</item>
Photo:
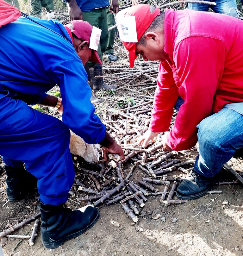
[[[179,94],[185,102],[167,137],[173,150],[189,149],[196,144],[196,126],[211,113],[225,55],[224,43],[209,37],[190,37],[175,45],[173,59],[181,84]]]

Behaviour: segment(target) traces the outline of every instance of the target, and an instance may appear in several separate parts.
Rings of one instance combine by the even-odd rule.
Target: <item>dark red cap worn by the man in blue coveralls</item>
[[[70,23],[72,23],[72,26],[69,26]],[[91,26],[89,22],[80,20],[68,22],[64,26],[67,29],[67,32],[72,32],[78,37],[78,39],[81,39],[82,41],[88,41],[90,49],[93,50],[92,57],[89,61],[98,62],[102,65],[102,62],[97,53],[98,45],[100,42],[101,29]]]

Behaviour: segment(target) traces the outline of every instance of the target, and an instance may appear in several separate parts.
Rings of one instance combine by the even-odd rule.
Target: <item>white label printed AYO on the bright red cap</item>
[[[135,16],[124,17],[124,10],[119,11],[116,15],[117,28],[120,39],[127,43],[137,43],[137,29]]]

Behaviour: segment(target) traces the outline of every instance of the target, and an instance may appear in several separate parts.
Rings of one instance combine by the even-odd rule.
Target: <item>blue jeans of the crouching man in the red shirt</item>
[[[179,97],[175,107],[184,103]],[[221,109],[203,119],[198,125],[198,156],[194,170],[206,177],[213,177],[243,147],[243,116],[233,109]]]

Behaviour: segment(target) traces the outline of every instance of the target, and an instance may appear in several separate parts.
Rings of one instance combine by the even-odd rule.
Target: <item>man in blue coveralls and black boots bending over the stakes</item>
[[[88,60],[101,63],[90,48],[91,43],[99,43],[98,38],[91,39],[92,29],[84,21],[63,26],[28,16],[0,28],[0,155],[7,195],[18,201],[26,193],[24,188],[30,187],[24,163],[38,179],[41,238],[47,248],[84,233],[99,218],[92,205],[74,211],[65,207],[74,179],[69,128],[85,142],[101,144],[104,159],[107,152],[124,159],[90,102],[83,65]],[[45,93],[55,84],[62,100]],[[36,103],[56,106],[63,122],[28,106]]]

